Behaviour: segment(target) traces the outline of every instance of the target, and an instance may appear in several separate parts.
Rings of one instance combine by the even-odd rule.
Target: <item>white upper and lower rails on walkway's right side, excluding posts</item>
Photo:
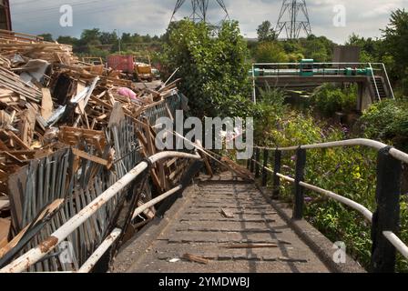
[[[357,138],[357,139],[351,139],[351,140],[344,140],[344,141],[336,141],[336,142],[329,142],[329,143],[321,143],[321,144],[313,144],[313,145],[305,145],[305,146],[289,146],[289,147],[276,147],[276,148],[270,148],[270,147],[262,147],[262,146],[254,146],[254,148],[258,149],[263,149],[263,150],[270,150],[270,151],[294,151],[298,149],[323,149],[323,148],[332,148],[332,147],[344,147],[344,146],[367,146],[371,147],[376,150],[381,150],[383,148],[388,147],[387,145],[370,140],[370,139],[363,139],[363,138]],[[393,156],[395,159],[408,164],[408,154],[391,147],[389,150],[389,153],[391,156]],[[261,168],[265,169],[266,171],[280,177],[281,179],[284,179],[291,184],[296,183],[296,180],[290,176],[284,176],[280,173],[274,173],[274,171],[268,167],[265,167],[262,165],[259,161],[251,158],[250,161],[254,162]],[[300,182],[300,186],[307,188],[313,192],[319,193],[324,196],[328,196],[346,206],[350,206],[352,209],[360,212],[362,216],[364,216],[370,223],[372,223],[372,212],[367,209],[365,206],[362,206],[361,204],[352,201],[351,199],[348,199],[343,196],[339,196],[329,190],[322,189],[318,186],[312,186],[311,184],[305,183],[305,182]],[[403,255],[405,258],[408,259],[408,246],[406,246],[403,241],[396,236],[393,232],[391,231],[383,231],[382,235],[395,247],[398,252],[400,252],[401,255]]]

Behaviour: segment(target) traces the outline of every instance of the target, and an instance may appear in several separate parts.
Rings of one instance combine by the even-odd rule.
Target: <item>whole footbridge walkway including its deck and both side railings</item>
[[[339,146],[367,146],[378,151],[374,213],[305,181],[307,151]],[[393,272],[397,253],[408,257],[408,247],[399,237],[402,167],[408,163],[407,154],[366,139],[287,148],[255,147],[255,156],[246,169],[228,158],[211,156],[199,145],[196,149],[192,154],[162,152],[142,161],[51,236],[3,266],[0,272],[26,272],[47,256],[53,256],[57,246],[88,220],[96,219],[95,215],[115,199],[124,201],[115,224],[107,228],[107,236],[96,243],[87,261],[69,272],[97,272],[103,262],[109,262],[114,272],[364,272],[350,257],[343,264],[339,249],[303,220],[305,189],[359,212],[372,225],[369,271]],[[294,177],[280,174],[283,152],[296,156]],[[204,165],[209,168],[206,156],[228,171],[212,177],[199,175]],[[179,185],[139,203],[152,167],[176,157],[190,161]],[[272,188],[266,187],[268,180],[273,182]],[[292,184],[293,206],[280,202],[281,181]],[[129,186],[131,191],[121,192]],[[133,219],[148,210],[152,213],[157,210],[155,217],[122,244]]]

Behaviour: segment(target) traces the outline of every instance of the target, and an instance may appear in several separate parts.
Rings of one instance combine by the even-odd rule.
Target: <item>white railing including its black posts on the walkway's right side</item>
[[[373,215],[372,212],[367,209],[365,206],[352,201],[351,199],[345,198],[343,196],[339,196],[330,190],[322,189],[318,186],[312,186],[303,181],[304,179],[304,167],[306,161],[306,150],[308,149],[323,149],[323,148],[332,148],[332,147],[345,147],[345,146],[367,146],[373,148],[378,151],[378,164],[377,164],[377,203],[379,204],[376,214]],[[391,247],[394,247],[394,250],[398,250],[405,258],[408,259],[408,246],[406,246],[403,241],[395,235],[393,230],[398,229],[398,214],[399,214],[399,197],[401,196],[401,189],[399,188],[399,182],[401,179],[401,168],[402,164],[408,164],[408,154],[392,147],[387,146],[381,142],[370,140],[370,139],[351,139],[351,140],[344,140],[344,141],[335,141],[330,143],[321,143],[321,144],[313,144],[313,145],[304,145],[304,146],[289,146],[289,147],[260,147],[254,146],[254,149],[257,152],[260,152],[260,149],[264,150],[264,156],[269,156],[266,154],[268,151],[274,151],[275,154],[275,169],[278,171],[274,171],[268,168],[265,165],[268,163],[260,162],[260,155],[256,155],[256,159],[250,158],[249,160],[249,168],[253,170],[255,167],[254,164],[261,166],[263,171],[267,171],[272,173],[275,176],[274,179],[274,188],[280,186],[280,179],[284,179],[291,184],[295,185],[295,210],[294,213],[301,213],[302,217],[302,210],[303,210],[303,190],[300,188],[306,188],[313,192],[319,193],[324,196],[329,196],[332,199],[352,207],[352,209],[357,210],[364,216],[370,223],[372,223],[372,239],[374,244],[374,253],[376,256],[372,256],[372,270],[378,272],[391,272],[393,271],[393,265],[395,258],[391,257],[384,257],[380,252],[385,252],[384,248],[390,250],[390,246],[384,244],[384,241],[388,241],[392,244]],[[284,151],[296,151],[297,152],[297,165],[296,165],[296,177],[292,178],[290,176],[284,176],[279,173],[280,171],[280,153]],[[277,158],[279,160],[277,160]],[[304,163],[299,163],[299,160],[304,161]],[[386,170],[385,170],[386,169]],[[262,186],[266,186],[266,179],[262,179]],[[276,191],[276,189],[275,189]],[[274,191],[274,192],[275,192]],[[279,194],[279,190],[278,194]],[[295,215],[294,215],[295,216]],[[373,219],[373,217],[376,217]],[[301,218],[295,217],[295,218]],[[381,223],[379,219],[382,220]],[[380,247],[381,246],[381,247]],[[380,258],[379,258],[380,257]],[[387,261],[387,263],[383,263]],[[393,263],[393,264],[392,264]],[[393,266],[393,267],[392,267]]]

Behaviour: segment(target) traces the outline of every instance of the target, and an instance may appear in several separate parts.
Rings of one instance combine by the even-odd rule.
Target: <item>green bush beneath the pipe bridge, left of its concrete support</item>
[[[311,95],[311,105],[325,116],[332,116],[336,112],[352,112],[356,104],[356,85],[342,89],[337,85],[325,84],[316,88]]]

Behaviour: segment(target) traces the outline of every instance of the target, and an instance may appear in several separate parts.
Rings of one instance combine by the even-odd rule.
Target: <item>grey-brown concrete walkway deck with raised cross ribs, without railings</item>
[[[225,210],[229,217],[222,214]],[[288,210],[288,209],[286,209]],[[125,246],[115,272],[310,273],[331,272],[287,223],[285,210],[257,186],[222,175],[190,186],[163,218]],[[232,214],[232,216],[230,216]],[[307,224],[307,223],[306,223]],[[303,227],[303,226],[301,226]],[[307,226],[306,226],[307,227]],[[309,226],[310,227],[310,226]],[[313,233],[314,232],[314,233]],[[317,245],[332,244],[323,240]],[[247,246],[244,246],[247,244]],[[252,246],[248,246],[252,244]],[[261,247],[263,246],[263,247]],[[237,247],[237,248],[235,248]],[[186,254],[208,260],[200,264]]]

